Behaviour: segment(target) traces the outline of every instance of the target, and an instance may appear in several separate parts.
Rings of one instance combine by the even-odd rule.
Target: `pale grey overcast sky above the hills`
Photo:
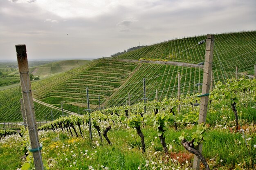
[[[173,38],[256,30],[256,0],[0,0],[0,61],[92,60]]]

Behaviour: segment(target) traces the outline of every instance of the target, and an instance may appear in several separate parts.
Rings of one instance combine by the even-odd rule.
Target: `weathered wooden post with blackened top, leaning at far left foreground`
[[[30,147],[34,149],[34,165],[36,170],[43,170],[43,161],[40,153],[40,144],[36,126],[36,117],[32,98],[31,84],[29,79],[29,66],[27,62],[26,45],[16,45],[18,68],[20,73],[20,86],[22,98],[27,117],[27,127],[29,130]]]

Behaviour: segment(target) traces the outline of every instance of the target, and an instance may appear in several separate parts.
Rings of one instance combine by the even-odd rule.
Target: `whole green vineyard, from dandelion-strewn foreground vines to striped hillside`
[[[61,62],[30,68],[35,74],[62,72],[31,83],[36,121],[50,121],[38,128],[43,166],[188,170],[193,166],[190,149],[204,143],[201,169],[253,169],[256,31],[215,35],[207,121],[198,124],[206,48],[198,42],[205,39],[174,39],[85,65],[76,60],[81,66],[73,69]],[[20,98],[20,87],[0,91],[0,123],[22,122]],[[61,109],[42,102],[79,115],[63,116]],[[0,126],[2,170],[31,166],[28,135],[20,127],[16,134]]]

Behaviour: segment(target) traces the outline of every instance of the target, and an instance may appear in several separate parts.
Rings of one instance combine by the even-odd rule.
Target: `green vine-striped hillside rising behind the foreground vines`
[[[239,73],[254,74],[255,35],[256,31],[215,35],[213,82],[223,82],[227,78],[235,77],[236,66]],[[198,36],[171,40],[119,55],[112,60],[94,60],[90,64],[33,82],[33,95],[36,99],[58,107],[61,107],[63,102],[64,108],[73,112],[87,107],[87,87],[92,109],[98,109],[99,97],[101,108],[103,104],[104,107],[124,105],[128,101],[128,93],[131,96],[131,104],[135,104],[143,98],[145,78],[148,101],[156,98],[156,90],[158,99],[162,100],[164,97],[176,97],[178,72],[181,73],[181,93],[198,93],[201,88],[196,84],[202,83],[202,66],[142,63],[138,59],[197,64],[204,61],[205,44],[198,45],[198,42],[205,38],[206,36]],[[64,64],[58,66],[62,65]],[[18,91],[18,88],[0,91],[0,96],[4,96],[5,93],[11,95],[14,91]],[[8,96],[2,97],[0,103],[7,103],[8,107],[1,107],[0,113],[18,119],[16,115],[21,115],[19,105],[17,106],[18,98],[11,100]]]

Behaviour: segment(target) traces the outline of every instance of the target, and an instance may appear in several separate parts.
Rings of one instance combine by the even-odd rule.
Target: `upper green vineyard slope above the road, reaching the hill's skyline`
[[[206,36],[170,40],[119,55],[117,58],[159,59],[199,63],[204,61]],[[256,31],[216,34],[214,39],[213,64],[227,71],[253,70],[256,63]]]

